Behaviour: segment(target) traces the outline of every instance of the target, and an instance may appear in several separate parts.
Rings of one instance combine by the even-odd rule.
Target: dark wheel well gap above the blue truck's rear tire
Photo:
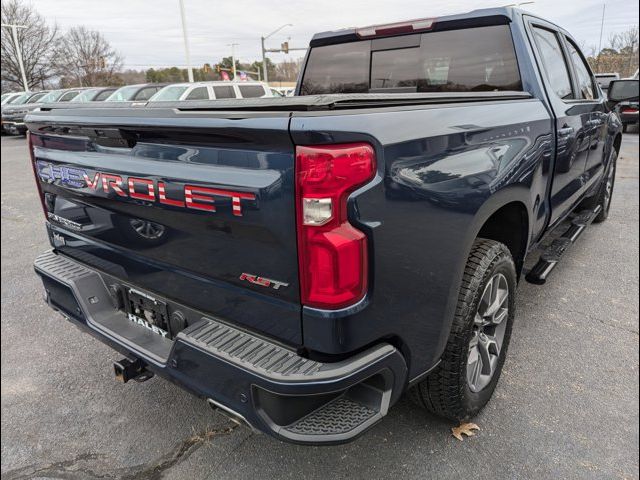
[[[491,215],[478,233],[478,237],[504,243],[516,264],[516,273],[520,276],[527,250],[529,234],[529,215],[524,204],[508,203]]]

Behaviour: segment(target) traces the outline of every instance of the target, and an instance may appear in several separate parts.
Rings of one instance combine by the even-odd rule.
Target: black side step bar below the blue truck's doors
[[[583,210],[572,220],[571,226],[560,237],[556,238],[540,255],[540,259],[527,273],[525,279],[535,285],[543,285],[547,277],[556,267],[562,255],[582,235],[602,210],[598,205],[594,210]]]

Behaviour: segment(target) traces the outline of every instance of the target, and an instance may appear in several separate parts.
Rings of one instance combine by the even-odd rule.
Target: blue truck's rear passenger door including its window
[[[549,104],[556,117],[556,159],[550,192],[553,225],[573,209],[585,189],[593,130],[592,107],[576,92],[564,35],[538,19],[529,22],[529,30]]]

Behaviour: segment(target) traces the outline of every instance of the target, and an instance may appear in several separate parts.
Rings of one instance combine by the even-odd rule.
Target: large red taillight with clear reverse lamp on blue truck
[[[366,143],[296,147],[296,211],[302,303],[336,309],[367,290],[367,238],[347,219],[347,198],[376,171]]]

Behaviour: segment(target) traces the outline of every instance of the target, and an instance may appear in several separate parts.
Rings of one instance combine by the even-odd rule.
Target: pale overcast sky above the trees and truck
[[[28,1],[28,0],[27,0]],[[242,62],[259,60],[260,37],[283,24],[266,41],[278,48],[306,47],[315,32],[391,23],[414,18],[464,13],[504,3],[477,0],[184,0],[191,63],[217,63],[231,55]],[[123,55],[125,69],[186,66],[178,0],[31,0],[30,3],[64,32],[84,25],[99,30]],[[603,44],[610,33],[638,24],[637,0],[536,0],[522,5],[568,30],[588,53],[597,46],[605,5]],[[274,62],[294,59],[304,51],[269,54]]]

